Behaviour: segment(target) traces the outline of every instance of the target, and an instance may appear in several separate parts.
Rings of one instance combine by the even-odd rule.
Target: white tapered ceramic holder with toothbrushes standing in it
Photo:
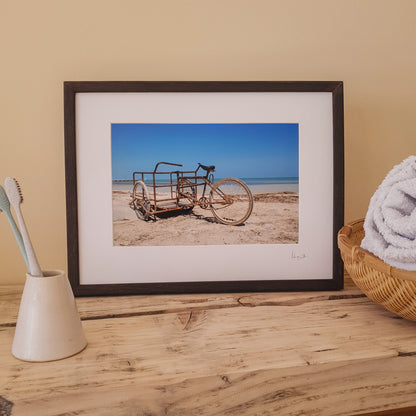
[[[83,350],[87,341],[66,273],[26,275],[12,354],[24,361],[52,361]]]

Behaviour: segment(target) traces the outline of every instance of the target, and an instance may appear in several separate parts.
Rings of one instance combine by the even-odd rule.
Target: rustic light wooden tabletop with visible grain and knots
[[[22,287],[0,287],[0,415],[416,415],[416,323],[340,292],[78,298],[81,353],[11,355]],[[393,412],[390,409],[405,408]]]

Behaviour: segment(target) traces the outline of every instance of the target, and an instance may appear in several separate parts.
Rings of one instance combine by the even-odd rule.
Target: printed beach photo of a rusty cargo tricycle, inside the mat
[[[114,246],[298,243],[298,124],[112,124],[111,164]]]

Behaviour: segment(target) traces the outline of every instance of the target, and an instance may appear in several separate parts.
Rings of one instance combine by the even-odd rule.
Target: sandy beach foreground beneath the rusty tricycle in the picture
[[[212,244],[295,244],[298,241],[298,194],[254,194],[245,224],[218,223],[209,209],[194,207],[180,215],[143,221],[129,207],[131,193],[113,190],[113,237],[116,246]]]

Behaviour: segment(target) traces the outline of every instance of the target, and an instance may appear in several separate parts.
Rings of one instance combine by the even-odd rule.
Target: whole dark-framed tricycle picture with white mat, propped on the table
[[[65,82],[76,296],[343,287],[343,84]]]

